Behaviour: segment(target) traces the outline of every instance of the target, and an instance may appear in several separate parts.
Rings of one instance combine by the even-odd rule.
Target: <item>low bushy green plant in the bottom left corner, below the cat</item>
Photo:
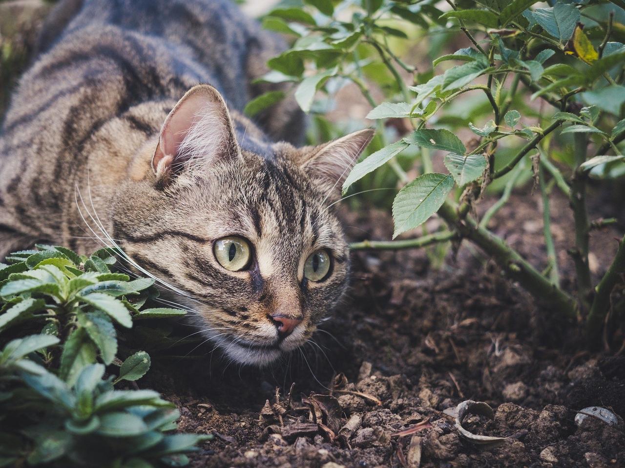
[[[119,390],[150,366],[145,351],[113,371],[115,325],[176,317],[143,306],[154,280],[111,271],[114,251],[89,257],[56,246],[13,253],[0,265],[0,466],[184,466],[185,452],[209,436],[171,434],[179,412],[151,390]],[[108,373],[106,366],[109,366]],[[106,375],[108,374],[108,375]]]

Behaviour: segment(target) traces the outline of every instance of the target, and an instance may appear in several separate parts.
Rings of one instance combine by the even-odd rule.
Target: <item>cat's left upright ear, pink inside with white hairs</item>
[[[232,120],[221,94],[211,85],[189,89],[161,128],[152,168],[165,187],[184,170],[240,156]]]

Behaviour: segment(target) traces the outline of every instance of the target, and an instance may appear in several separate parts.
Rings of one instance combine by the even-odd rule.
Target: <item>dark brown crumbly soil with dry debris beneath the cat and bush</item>
[[[491,228],[544,267],[538,198],[514,196]],[[599,214],[615,214],[600,198],[594,203]],[[572,285],[566,200],[556,197],[552,212],[563,282]],[[391,235],[386,213],[344,217],[354,240]],[[592,260],[596,275],[618,232],[593,233],[592,245],[602,247]],[[622,352],[587,351],[577,326],[468,245],[437,269],[424,250],[360,251],[352,260],[344,305],[322,324],[316,344],[287,362],[238,368],[196,351],[194,364],[174,359],[141,382],[178,404],[181,430],[214,434],[192,466],[625,466]],[[469,415],[463,427],[504,437],[502,444],[461,436],[453,410],[466,400],[486,402],[494,414]],[[593,405],[611,409],[618,424],[586,417],[577,426],[576,412]]]

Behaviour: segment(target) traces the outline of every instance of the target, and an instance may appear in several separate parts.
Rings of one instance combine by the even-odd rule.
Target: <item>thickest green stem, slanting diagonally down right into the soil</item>
[[[467,239],[484,250],[496,261],[502,270],[512,280],[519,281],[535,298],[544,299],[554,306],[557,313],[574,319],[577,316],[576,304],[571,296],[552,285],[547,278],[541,275],[532,265],[506,244],[504,240],[489,232],[486,228],[478,226],[471,218],[462,222],[456,213],[454,204],[447,200],[438,210],[438,214],[445,222]]]

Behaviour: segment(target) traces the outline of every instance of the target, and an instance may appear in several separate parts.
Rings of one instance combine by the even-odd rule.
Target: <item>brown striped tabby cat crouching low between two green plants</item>
[[[285,99],[254,121],[283,49],[226,0],[63,0],[0,130],[0,255],[119,246],[232,361],[298,348],[347,287],[328,209],[364,129],[316,147]]]

